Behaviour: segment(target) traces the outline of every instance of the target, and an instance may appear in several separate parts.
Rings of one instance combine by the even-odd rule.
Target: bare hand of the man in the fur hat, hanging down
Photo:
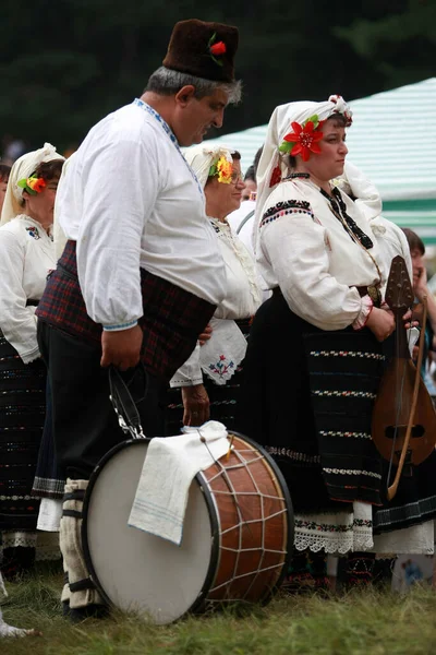
[[[140,325],[117,332],[102,332],[100,366],[111,364],[126,371],[140,362],[143,331]]]

